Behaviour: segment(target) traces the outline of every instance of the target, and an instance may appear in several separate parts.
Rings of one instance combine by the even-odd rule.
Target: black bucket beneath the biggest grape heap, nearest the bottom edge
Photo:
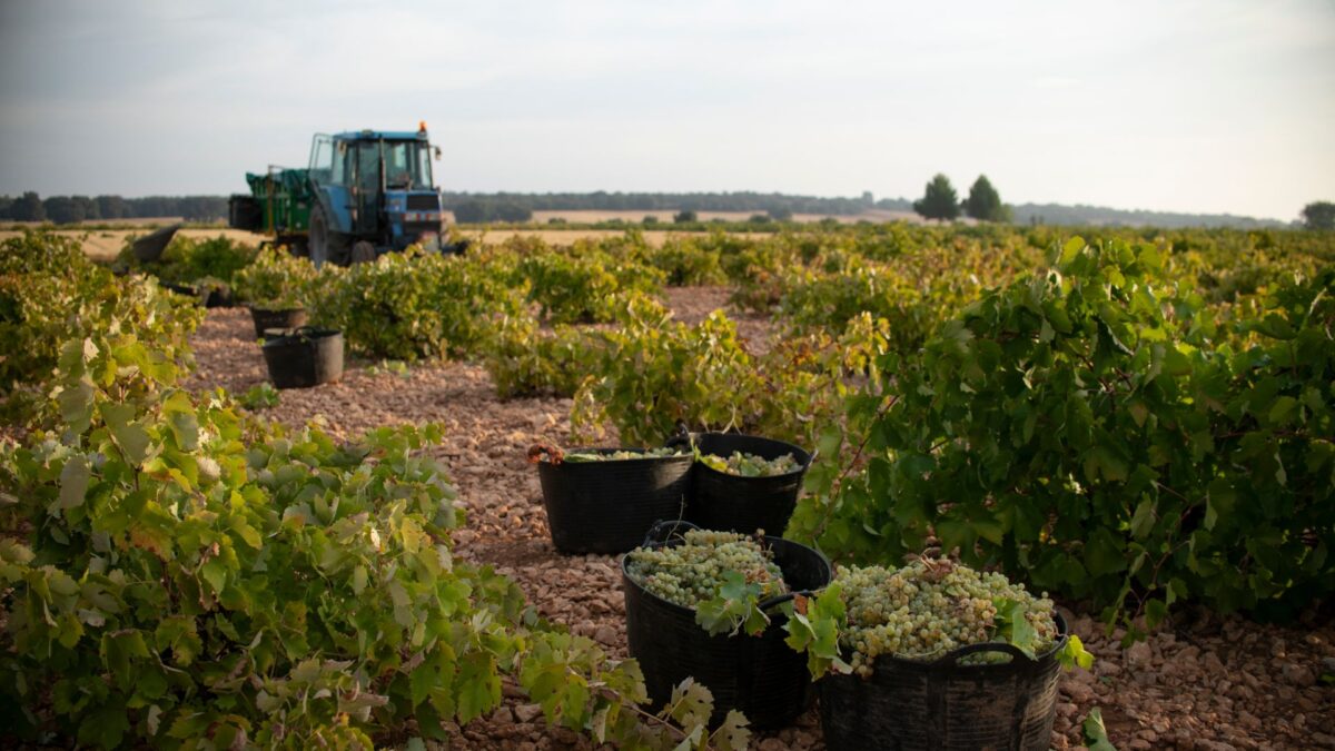
[[[1037,659],[1009,644],[971,644],[930,663],[877,657],[868,679],[822,678],[817,690],[826,748],[1048,748],[1057,708],[1057,652],[1067,643],[1067,623],[1060,615],[1056,621],[1059,639]],[[1003,652],[1011,661],[959,664],[979,652]]]

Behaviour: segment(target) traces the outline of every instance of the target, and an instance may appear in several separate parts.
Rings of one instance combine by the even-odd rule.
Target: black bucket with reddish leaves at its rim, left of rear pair
[[[581,453],[643,449],[570,449]],[[538,462],[551,543],[563,553],[625,553],[686,505],[690,454],[617,461]]]

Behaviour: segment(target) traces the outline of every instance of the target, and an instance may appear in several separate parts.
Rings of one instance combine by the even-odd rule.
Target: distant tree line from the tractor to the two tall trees
[[[461,222],[469,215],[499,216],[533,211],[738,211],[788,218],[793,214],[853,216],[869,208],[905,211],[904,199],[881,199],[870,192],[858,198],[820,198],[778,192],[445,192],[443,204]],[[525,220],[525,219],[482,219]]]

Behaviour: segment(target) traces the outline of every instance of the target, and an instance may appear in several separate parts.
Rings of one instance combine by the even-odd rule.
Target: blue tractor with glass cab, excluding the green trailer
[[[310,255],[316,263],[370,261],[418,243],[441,250],[439,151],[417,132],[355,131],[311,143]]]

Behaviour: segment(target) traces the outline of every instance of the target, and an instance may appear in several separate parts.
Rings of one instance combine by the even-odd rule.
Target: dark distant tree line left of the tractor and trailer
[[[0,195],[0,220],[8,222],[72,224],[75,222],[152,216],[182,216],[190,222],[226,219],[227,196],[150,195],[146,198],[121,198],[119,195],[52,195],[44,199],[33,191],[15,198]]]

